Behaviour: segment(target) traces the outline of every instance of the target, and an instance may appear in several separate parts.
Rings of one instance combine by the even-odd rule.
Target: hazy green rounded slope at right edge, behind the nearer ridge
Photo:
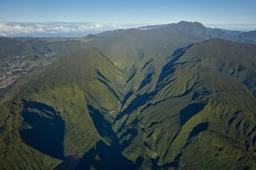
[[[256,96],[256,46],[212,39],[192,46],[179,62],[194,61],[221,71],[245,85]]]

